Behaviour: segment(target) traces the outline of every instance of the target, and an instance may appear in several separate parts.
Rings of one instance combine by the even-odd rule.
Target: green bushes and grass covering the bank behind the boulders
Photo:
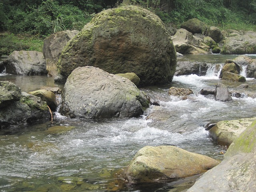
[[[0,0],[0,55],[38,50],[43,39],[61,30],[81,30],[94,14],[138,5],[178,28],[198,18],[222,30],[256,31],[256,0]]]

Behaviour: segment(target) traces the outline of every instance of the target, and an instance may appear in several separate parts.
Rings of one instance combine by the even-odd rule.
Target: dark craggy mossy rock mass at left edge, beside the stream
[[[0,128],[46,120],[49,115],[41,98],[22,92],[11,82],[0,81]]]

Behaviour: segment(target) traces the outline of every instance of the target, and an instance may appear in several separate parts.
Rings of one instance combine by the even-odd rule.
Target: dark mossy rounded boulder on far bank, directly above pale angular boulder
[[[187,20],[186,22],[182,23],[180,27],[188,30],[192,34],[202,33],[204,30],[206,30],[206,25],[204,24],[204,22],[200,21],[197,18]]]

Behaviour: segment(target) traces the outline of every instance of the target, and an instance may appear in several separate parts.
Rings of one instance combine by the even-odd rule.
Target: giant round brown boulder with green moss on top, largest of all
[[[140,85],[172,81],[176,50],[163,22],[137,6],[97,14],[64,47],[58,69],[67,78],[77,67],[94,66],[111,74],[134,72]]]

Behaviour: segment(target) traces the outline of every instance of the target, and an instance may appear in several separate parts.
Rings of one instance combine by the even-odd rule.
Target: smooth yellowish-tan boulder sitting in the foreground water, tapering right
[[[134,156],[122,176],[129,182],[155,182],[206,172],[219,162],[174,146],[145,146]]]

